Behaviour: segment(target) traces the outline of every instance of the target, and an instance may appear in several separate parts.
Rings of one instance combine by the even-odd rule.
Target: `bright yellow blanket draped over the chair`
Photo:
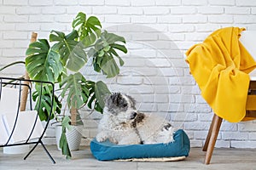
[[[247,90],[256,62],[239,42],[244,28],[227,27],[186,52],[190,73],[201,95],[218,116],[240,122],[246,115]]]

